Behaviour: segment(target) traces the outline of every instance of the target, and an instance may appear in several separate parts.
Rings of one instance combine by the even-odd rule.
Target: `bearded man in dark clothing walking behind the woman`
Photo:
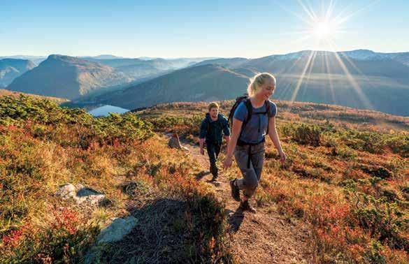
[[[208,106],[205,119],[201,122],[199,132],[200,154],[204,154],[203,145],[206,138],[206,148],[208,150],[210,160],[210,173],[212,173],[212,182],[217,180],[217,166],[216,160],[220,153],[220,147],[222,147],[222,140],[226,140],[229,145],[230,129],[229,122],[226,117],[219,113],[219,105],[212,102]]]

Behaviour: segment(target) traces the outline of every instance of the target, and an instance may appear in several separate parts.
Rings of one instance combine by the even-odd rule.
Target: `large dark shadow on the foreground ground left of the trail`
[[[200,200],[203,203],[203,200]],[[208,205],[204,202],[203,205]],[[103,244],[100,263],[211,263],[208,245],[221,223],[192,209],[190,201],[161,198],[129,212],[138,219],[122,240]]]

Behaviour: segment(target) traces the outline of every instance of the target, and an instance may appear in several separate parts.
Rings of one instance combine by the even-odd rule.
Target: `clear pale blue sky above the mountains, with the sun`
[[[311,31],[326,23],[312,22],[308,13],[322,17],[330,2],[1,1],[0,56],[254,58],[312,49],[409,51],[409,1],[333,0],[331,21],[342,23],[320,38]]]

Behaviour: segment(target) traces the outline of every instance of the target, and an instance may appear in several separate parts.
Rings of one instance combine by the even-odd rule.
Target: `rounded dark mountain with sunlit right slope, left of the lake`
[[[130,80],[110,66],[62,55],[50,55],[36,68],[16,78],[7,89],[29,94],[78,98],[101,87]]]

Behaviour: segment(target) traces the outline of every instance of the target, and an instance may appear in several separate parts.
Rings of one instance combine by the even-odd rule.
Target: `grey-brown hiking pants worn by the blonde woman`
[[[238,165],[238,168],[240,168],[241,170],[241,174],[243,175],[243,182],[241,184],[241,181],[238,181],[238,188],[243,190],[243,193],[247,198],[253,196],[259,184],[259,180],[261,178],[261,170],[263,170],[265,151],[264,142],[261,142],[258,145],[251,146],[250,168],[248,168],[247,161],[249,147],[249,145],[237,145],[236,149],[234,150],[236,163]]]

